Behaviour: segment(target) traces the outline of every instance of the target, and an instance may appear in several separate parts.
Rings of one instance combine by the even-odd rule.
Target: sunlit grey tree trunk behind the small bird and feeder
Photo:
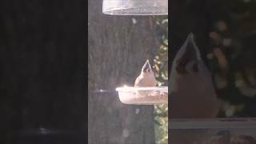
[[[152,63],[158,49],[152,17],[105,15],[102,0],[90,0],[88,30],[89,143],[154,144],[154,107],[124,105],[114,92],[134,85],[146,58]]]

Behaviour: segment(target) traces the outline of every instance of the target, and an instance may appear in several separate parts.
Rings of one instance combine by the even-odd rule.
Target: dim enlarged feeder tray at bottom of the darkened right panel
[[[256,118],[170,119],[173,143],[255,144]]]

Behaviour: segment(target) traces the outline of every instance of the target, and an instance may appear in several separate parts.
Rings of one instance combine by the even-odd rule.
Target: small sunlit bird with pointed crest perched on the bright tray
[[[154,71],[150,66],[150,61],[147,59],[142,66],[141,74],[136,78],[134,87],[156,86],[157,80],[154,77]]]

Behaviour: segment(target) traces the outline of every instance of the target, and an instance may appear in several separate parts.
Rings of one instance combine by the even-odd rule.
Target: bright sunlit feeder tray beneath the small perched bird
[[[125,104],[157,105],[168,104],[168,87],[118,87],[119,99]]]

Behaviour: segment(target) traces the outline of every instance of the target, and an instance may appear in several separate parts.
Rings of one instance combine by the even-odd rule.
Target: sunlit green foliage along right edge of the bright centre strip
[[[156,37],[160,46],[154,57],[155,76],[158,86],[167,86],[168,83],[168,18],[154,17],[157,23]],[[168,105],[154,106],[155,139],[157,144],[168,143]]]

